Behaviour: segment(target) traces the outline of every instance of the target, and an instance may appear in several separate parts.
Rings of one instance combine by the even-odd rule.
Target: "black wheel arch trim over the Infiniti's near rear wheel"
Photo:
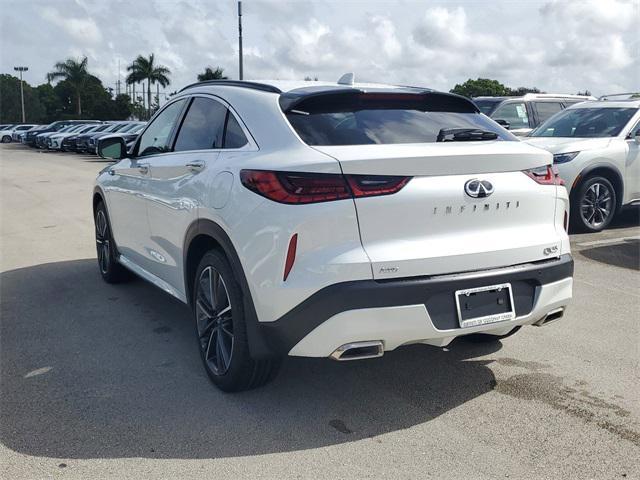
[[[222,253],[224,253],[227,257],[227,260],[229,261],[231,269],[233,270],[233,273],[238,282],[238,285],[242,290],[247,339],[251,357],[256,360],[261,360],[278,356],[275,353],[276,350],[270,345],[270,342],[264,335],[264,330],[260,327],[258,315],[256,313],[253,298],[251,296],[251,290],[249,289],[249,284],[244,274],[244,269],[242,268],[240,257],[238,256],[238,253],[236,252],[231,239],[224,231],[224,229],[212,220],[202,218],[196,220],[189,226],[185,235],[184,247],[182,250],[182,265],[184,269],[185,291],[187,294],[187,302],[189,306],[192,306],[193,299],[191,292],[192,286],[190,284],[191,282],[188,275],[189,265],[187,261],[189,247],[191,246],[192,241],[199,235],[210,237],[220,246]]]

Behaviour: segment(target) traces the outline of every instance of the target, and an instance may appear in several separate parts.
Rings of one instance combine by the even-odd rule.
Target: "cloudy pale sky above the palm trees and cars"
[[[237,78],[235,0],[0,0],[0,73],[42,83],[89,58],[108,86],[155,53],[179,89],[205,66]],[[467,78],[593,94],[640,89],[640,0],[243,2],[245,78],[356,79],[449,90]]]

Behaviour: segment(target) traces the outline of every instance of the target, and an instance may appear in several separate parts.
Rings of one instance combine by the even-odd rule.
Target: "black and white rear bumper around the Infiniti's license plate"
[[[501,335],[539,322],[569,303],[573,259],[560,258],[496,270],[326,287],[260,331],[281,355],[326,357],[350,342],[381,340],[384,350],[409,343],[446,345],[476,332]],[[454,292],[511,283],[514,320],[460,328]]]

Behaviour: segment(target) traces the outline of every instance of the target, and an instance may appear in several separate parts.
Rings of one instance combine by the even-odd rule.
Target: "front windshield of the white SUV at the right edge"
[[[637,108],[569,108],[555,114],[531,137],[615,137],[638,111]]]

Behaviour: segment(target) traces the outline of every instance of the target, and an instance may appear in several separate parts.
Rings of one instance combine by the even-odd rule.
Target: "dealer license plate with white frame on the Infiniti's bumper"
[[[510,283],[458,290],[455,296],[462,328],[516,318]]]

